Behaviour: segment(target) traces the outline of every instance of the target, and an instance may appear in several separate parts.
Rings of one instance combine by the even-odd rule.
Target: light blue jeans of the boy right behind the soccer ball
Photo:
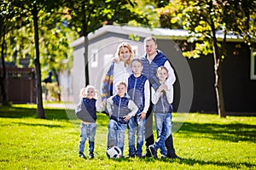
[[[125,145],[125,129],[127,124],[119,123],[113,119],[108,122],[108,148],[118,146],[122,153]]]

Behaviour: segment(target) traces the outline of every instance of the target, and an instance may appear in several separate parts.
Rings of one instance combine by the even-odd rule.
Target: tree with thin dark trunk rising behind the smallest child
[[[107,21],[110,24],[127,23],[130,20],[148,25],[148,19],[133,8],[137,3],[131,0],[73,0],[65,1],[67,14],[71,16],[69,26],[84,37],[85,85],[89,84],[88,34],[96,31]]]

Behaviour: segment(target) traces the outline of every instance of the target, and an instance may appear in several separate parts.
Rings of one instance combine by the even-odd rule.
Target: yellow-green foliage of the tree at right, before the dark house
[[[172,24],[182,23],[184,29],[190,33],[191,42],[195,42],[195,50],[185,52],[188,57],[199,57],[201,54],[213,53],[213,41],[217,31],[222,32],[222,38],[218,39],[218,57],[225,56],[225,36],[237,35],[243,37],[248,45],[255,42],[255,17],[256,3],[249,1],[171,1],[168,5],[157,9],[158,14],[170,14]]]

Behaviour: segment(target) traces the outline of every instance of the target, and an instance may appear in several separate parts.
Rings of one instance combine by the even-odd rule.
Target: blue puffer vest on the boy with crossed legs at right
[[[160,87],[160,83],[154,83],[153,88],[156,91]],[[158,102],[153,106],[154,113],[172,113],[172,104],[168,103],[166,93],[161,95]]]

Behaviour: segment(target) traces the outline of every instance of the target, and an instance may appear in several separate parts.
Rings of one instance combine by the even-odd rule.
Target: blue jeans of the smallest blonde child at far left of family
[[[94,151],[94,138],[96,135],[96,123],[85,124],[81,122],[80,125],[80,143],[79,152],[84,152],[85,141],[89,139],[89,151]]]

